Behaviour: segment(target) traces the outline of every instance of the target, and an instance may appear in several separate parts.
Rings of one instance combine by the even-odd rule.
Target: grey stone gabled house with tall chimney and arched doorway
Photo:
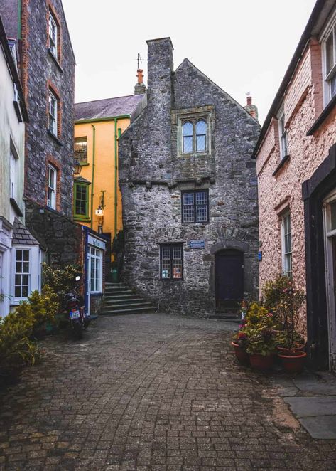
[[[259,124],[188,59],[174,70],[170,38],[147,43],[147,105],[119,141],[123,277],[210,316],[257,295]]]

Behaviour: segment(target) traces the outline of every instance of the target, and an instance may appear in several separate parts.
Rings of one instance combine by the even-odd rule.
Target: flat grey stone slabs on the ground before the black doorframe
[[[336,439],[336,377],[327,372],[272,377],[279,396],[311,437]]]

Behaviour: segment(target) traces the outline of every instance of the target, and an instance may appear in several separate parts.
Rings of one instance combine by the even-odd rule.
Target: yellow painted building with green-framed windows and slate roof
[[[74,218],[94,231],[114,235],[122,228],[118,185],[118,138],[143,107],[145,95],[75,104]],[[99,216],[99,213],[103,216]]]

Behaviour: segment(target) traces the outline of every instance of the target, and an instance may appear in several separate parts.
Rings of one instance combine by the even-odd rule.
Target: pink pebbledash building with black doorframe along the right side
[[[315,368],[336,369],[336,0],[318,0],[254,149],[260,282],[307,294],[301,329]]]

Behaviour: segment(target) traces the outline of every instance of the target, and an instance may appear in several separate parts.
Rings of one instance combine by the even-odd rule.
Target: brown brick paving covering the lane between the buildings
[[[0,393],[1,470],[336,470],[224,322],[104,317]]]

